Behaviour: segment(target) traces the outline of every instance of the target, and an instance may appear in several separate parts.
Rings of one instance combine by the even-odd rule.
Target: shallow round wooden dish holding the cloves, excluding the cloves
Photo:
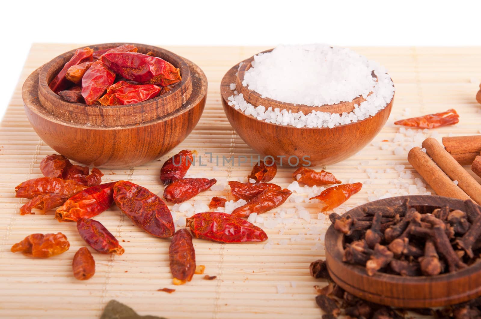
[[[465,210],[460,199],[443,196],[398,196],[380,199],[358,206],[344,215],[362,217],[367,205],[396,206],[409,198],[409,205],[420,213],[440,208],[439,203],[451,209]],[[343,216],[344,216],[343,215]],[[424,308],[453,305],[481,296],[481,262],[452,273],[438,276],[407,277],[385,273],[368,276],[365,267],[342,262],[343,234],[330,226],[325,238],[326,262],[334,282],[355,296],[392,307]]]

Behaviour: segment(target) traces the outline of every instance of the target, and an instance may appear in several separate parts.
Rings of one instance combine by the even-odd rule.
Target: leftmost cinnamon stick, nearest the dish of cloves
[[[413,147],[407,154],[407,160],[418,173],[430,184],[431,188],[440,196],[459,198],[462,200],[470,197],[434,163],[428,154],[419,147]]]

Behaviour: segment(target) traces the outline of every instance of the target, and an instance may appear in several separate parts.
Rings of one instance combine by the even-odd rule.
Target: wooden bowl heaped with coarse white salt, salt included
[[[233,66],[224,111],[241,138],[283,165],[328,165],[365,147],[391,113],[394,85],[350,49],[279,46]]]

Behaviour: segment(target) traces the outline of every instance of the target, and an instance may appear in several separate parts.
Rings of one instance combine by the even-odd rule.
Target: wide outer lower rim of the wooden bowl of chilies
[[[168,114],[165,114],[162,117],[159,117],[155,120],[152,121],[147,121],[147,122],[141,122],[141,123],[135,123],[135,124],[128,124],[128,125],[119,125],[119,126],[105,126],[105,125],[86,125],[86,124],[81,124],[81,123],[75,123],[71,121],[67,121],[65,119],[62,119],[54,114],[51,114],[48,112],[43,105],[40,103],[38,100],[38,96],[33,96],[29,92],[29,88],[26,87],[26,83],[28,82],[25,80],[24,85],[22,86],[22,99],[24,101],[24,106],[27,107],[29,110],[32,112],[35,112],[38,114],[38,116],[41,116],[51,122],[54,123],[59,123],[63,124],[65,126],[70,126],[70,127],[76,127],[76,128],[81,128],[81,129],[95,129],[95,130],[120,130],[120,129],[131,129],[135,127],[143,127],[143,126],[149,126],[155,123],[163,122],[163,121],[168,121],[173,117],[176,117],[180,114],[183,114],[185,112],[188,112],[190,109],[194,108],[199,101],[201,101],[203,98],[205,99],[207,96],[207,88],[208,88],[208,82],[207,82],[207,77],[205,76],[203,70],[193,63],[190,60],[187,60],[183,58],[183,60],[187,63],[189,66],[190,73],[192,73],[192,84],[194,82],[198,82],[198,85],[192,87],[192,94],[190,95],[189,99],[182,104],[180,108],[177,110],[174,110],[173,112],[170,112]],[[40,75],[40,72],[42,70],[42,67],[44,65],[38,67],[34,72],[32,72],[30,75],[28,75],[27,79],[30,79],[31,77],[36,77],[34,81],[38,83],[38,77]],[[53,93],[53,92],[52,92]],[[54,94],[54,93],[53,93]],[[60,97],[59,97],[60,98]]]

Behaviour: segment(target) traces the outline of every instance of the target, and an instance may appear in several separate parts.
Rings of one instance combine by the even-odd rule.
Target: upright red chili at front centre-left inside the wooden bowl
[[[107,69],[101,60],[95,61],[82,77],[82,96],[87,105],[94,104],[107,87],[114,84],[115,73]]]

